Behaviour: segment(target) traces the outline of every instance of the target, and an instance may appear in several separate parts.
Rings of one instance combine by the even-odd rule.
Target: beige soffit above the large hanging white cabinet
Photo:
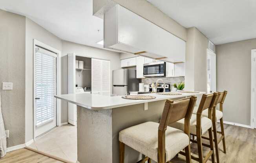
[[[178,24],[146,0],[93,0],[93,13],[110,2],[116,2],[182,40],[187,40],[187,30],[185,27]]]

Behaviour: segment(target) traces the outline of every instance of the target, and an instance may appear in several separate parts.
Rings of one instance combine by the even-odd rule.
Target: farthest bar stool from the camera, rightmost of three
[[[219,104],[219,110],[216,109],[216,106],[212,109],[212,129],[213,129],[213,135],[214,135],[214,144],[215,144],[215,150],[216,150],[216,159],[217,163],[219,163],[219,149],[218,144],[221,142],[223,143],[223,152],[226,153],[226,144],[225,144],[225,134],[224,134],[224,126],[223,126],[223,103],[227,96],[227,91],[218,92],[219,98],[217,100],[216,105]],[[193,110],[193,114],[197,111],[198,107],[195,107]],[[208,116],[208,109],[204,110],[202,112],[202,116]],[[220,121],[220,127],[221,131],[217,131],[216,127],[216,121]],[[221,137],[217,139],[217,134],[221,134]],[[203,139],[209,139],[205,136],[202,136]],[[204,144],[205,145],[205,144]],[[207,145],[205,145],[207,146]]]

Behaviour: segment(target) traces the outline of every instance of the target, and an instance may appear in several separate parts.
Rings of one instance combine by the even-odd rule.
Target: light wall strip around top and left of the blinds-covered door
[[[26,18],[26,142],[33,139],[33,39],[61,51],[61,40]]]

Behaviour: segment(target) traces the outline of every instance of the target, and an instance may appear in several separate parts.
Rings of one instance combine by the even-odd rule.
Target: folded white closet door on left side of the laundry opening
[[[68,94],[75,93],[75,53],[68,54]],[[77,105],[68,102],[68,123],[77,125]]]

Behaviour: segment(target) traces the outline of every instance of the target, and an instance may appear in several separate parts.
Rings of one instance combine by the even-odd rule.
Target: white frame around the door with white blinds
[[[35,46],[38,45],[40,47],[43,47],[44,49],[48,49],[49,51],[52,51],[57,54],[56,57],[56,94],[61,94],[61,51],[46,45],[38,40],[33,39],[33,138],[34,141],[36,140],[35,138],[35,124],[36,124],[36,110],[35,110]],[[56,100],[56,125],[60,126],[61,125],[61,100],[57,99]]]

